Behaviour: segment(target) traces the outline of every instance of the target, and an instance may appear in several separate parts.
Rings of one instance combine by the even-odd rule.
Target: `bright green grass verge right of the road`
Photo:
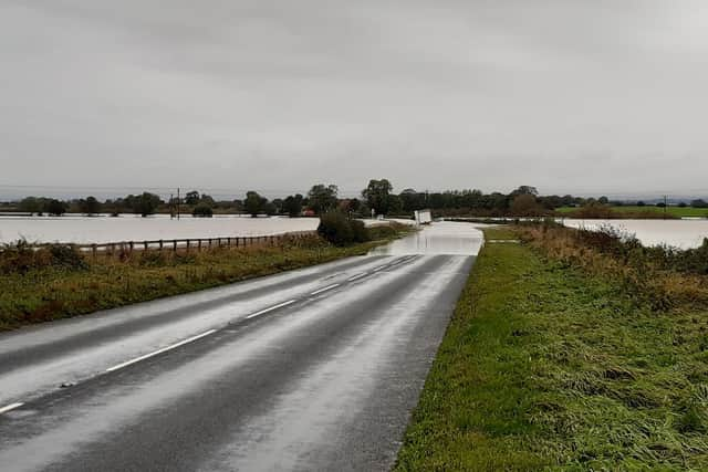
[[[542,251],[482,250],[397,470],[708,470],[706,311]]]

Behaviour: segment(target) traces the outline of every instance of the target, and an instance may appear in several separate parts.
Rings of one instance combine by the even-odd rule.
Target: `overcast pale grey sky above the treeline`
[[[708,193],[707,90],[705,0],[0,0],[0,193]]]

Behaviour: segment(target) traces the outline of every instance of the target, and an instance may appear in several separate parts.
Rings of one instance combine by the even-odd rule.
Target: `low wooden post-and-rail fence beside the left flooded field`
[[[145,240],[145,241],[121,241],[104,242],[94,244],[71,244],[80,251],[91,252],[95,258],[98,252],[113,253],[116,251],[147,251],[170,250],[177,252],[178,249],[201,251],[210,248],[247,248],[253,245],[278,245],[288,240],[299,240],[317,234],[316,231],[293,231],[280,234],[256,235],[256,237],[222,237],[222,238],[188,238],[170,240]],[[33,244],[42,248],[51,244]],[[69,245],[69,244],[67,244]]]

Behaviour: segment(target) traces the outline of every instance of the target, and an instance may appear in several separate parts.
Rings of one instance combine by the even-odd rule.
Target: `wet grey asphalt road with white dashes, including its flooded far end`
[[[1,335],[0,469],[387,470],[480,243],[440,223]]]

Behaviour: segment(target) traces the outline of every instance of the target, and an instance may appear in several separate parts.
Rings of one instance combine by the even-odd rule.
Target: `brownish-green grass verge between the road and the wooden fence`
[[[53,248],[55,254],[8,253],[0,261],[0,331],[362,255],[403,233],[378,231],[377,241],[344,248],[312,237],[278,247],[135,251],[95,260],[66,247]]]

